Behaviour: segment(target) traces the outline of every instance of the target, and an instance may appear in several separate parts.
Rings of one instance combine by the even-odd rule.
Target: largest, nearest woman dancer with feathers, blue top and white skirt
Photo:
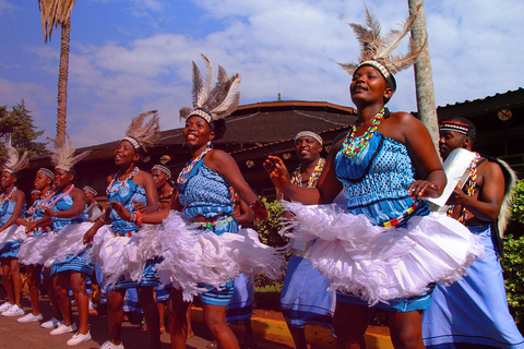
[[[422,311],[431,282],[458,279],[481,248],[452,219],[429,215],[420,198],[439,196],[446,182],[429,132],[412,115],[384,107],[396,88],[392,73],[417,56],[391,58],[388,43],[398,44],[409,33],[413,16],[391,40],[374,32],[380,25],[369,12],[367,23],[371,29],[352,24],[362,40],[361,62],[343,64],[353,74],[357,120],[335,140],[317,188],[291,184],[277,157],[264,165],[278,190],[306,205],[329,204],[344,189],[346,207],[284,203],[296,216],[289,228],[297,239],[320,238],[309,260],[337,290],[337,347],[360,348],[374,310],[383,309],[395,348],[424,348]]]

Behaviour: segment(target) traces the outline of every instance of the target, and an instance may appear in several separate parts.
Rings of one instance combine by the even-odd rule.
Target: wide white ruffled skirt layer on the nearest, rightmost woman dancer
[[[484,246],[462,224],[443,214],[412,217],[406,228],[373,226],[345,207],[282,202],[295,220],[283,232],[302,241],[319,238],[309,261],[325,274],[329,290],[359,296],[370,304],[413,297],[427,285],[450,285],[465,275]]]

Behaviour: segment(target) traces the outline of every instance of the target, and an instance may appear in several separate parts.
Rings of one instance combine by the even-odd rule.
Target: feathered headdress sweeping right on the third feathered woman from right
[[[150,121],[145,122],[145,118],[152,116]],[[126,131],[126,136],[121,141],[128,141],[134,149],[141,154],[155,146],[160,139],[160,124],[158,110],[150,110],[134,117]]]

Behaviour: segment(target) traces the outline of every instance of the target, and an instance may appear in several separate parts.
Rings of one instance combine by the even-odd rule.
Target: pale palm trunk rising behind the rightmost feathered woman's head
[[[438,149],[439,145],[439,121],[437,108],[434,105],[433,76],[431,72],[431,58],[429,56],[428,32],[426,28],[426,12],[424,10],[424,0],[407,0],[409,12],[414,11],[419,4],[417,19],[412,27],[412,37],[417,47],[426,46],[421,50],[415,63],[415,84],[417,89],[417,107],[420,121],[429,130]]]

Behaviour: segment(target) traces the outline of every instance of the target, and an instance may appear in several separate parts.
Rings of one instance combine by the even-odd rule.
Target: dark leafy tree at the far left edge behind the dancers
[[[7,144],[11,137],[11,144],[15,148],[25,149],[29,156],[43,155],[46,153],[46,143],[35,142],[44,131],[37,131],[33,124],[31,111],[25,108],[25,101],[22,99],[12,107],[0,106],[0,141]],[[1,146],[3,149],[3,146]]]

